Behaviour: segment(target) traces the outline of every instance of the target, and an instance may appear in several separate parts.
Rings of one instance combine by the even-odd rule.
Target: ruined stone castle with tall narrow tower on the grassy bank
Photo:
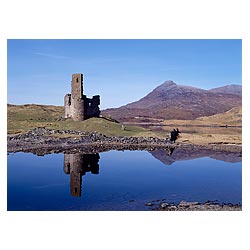
[[[100,96],[87,98],[83,95],[83,74],[73,74],[71,81],[71,94],[64,97],[65,118],[74,121],[83,121],[100,115]]]

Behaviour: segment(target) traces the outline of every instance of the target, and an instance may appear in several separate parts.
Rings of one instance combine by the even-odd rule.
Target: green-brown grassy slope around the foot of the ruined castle
[[[91,118],[81,122],[61,119],[64,108],[47,105],[8,105],[8,134],[23,133],[36,127],[48,129],[99,132],[107,136],[160,136],[137,126],[125,126],[104,118]]]

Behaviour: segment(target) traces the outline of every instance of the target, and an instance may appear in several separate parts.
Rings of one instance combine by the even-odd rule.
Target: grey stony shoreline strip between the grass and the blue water
[[[55,130],[35,128],[23,134],[7,135],[7,151],[32,152],[38,155],[49,153],[95,153],[109,150],[209,150],[214,152],[237,153],[241,155],[241,145],[171,143],[167,138],[105,136],[97,132],[75,130]]]

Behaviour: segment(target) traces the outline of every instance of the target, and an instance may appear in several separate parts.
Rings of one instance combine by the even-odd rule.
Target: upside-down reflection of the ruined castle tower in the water
[[[64,154],[64,172],[70,174],[70,192],[72,196],[81,196],[82,176],[86,172],[99,174],[99,159],[96,154]]]

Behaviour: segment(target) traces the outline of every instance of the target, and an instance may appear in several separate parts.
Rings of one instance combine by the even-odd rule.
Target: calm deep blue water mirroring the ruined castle
[[[149,210],[146,203],[163,199],[241,203],[241,162],[163,162],[147,151],[10,154],[8,210]]]

